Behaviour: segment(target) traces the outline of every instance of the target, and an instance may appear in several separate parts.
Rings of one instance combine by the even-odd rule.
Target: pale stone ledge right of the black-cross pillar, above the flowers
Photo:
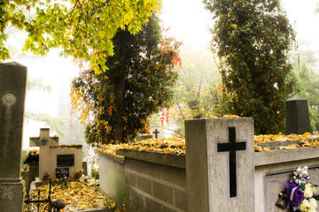
[[[274,149],[254,152],[254,166],[319,158],[319,147]]]

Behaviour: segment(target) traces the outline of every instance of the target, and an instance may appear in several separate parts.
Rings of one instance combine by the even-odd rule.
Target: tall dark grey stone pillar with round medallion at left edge
[[[20,178],[27,67],[0,64],[0,211],[22,211]]]

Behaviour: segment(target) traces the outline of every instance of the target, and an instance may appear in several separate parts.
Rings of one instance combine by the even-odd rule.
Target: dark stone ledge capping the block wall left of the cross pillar
[[[164,154],[159,152],[146,152],[133,149],[121,149],[116,151],[117,155],[134,158],[150,163],[159,163],[185,169],[185,155]]]

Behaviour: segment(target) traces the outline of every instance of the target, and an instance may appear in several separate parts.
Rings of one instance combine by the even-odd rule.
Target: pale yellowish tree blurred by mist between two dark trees
[[[222,116],[221,95],[218,87],[221,76],[210,52],[188,49],[181,54],[182,67],[178,69],[169,122],[173,123],[176,136],[184,135],[186,119]]]

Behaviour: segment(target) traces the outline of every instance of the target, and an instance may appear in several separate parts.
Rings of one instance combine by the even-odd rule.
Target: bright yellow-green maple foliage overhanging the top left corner
[[[5,29],[12,26],[27,32],[26,50],[45,55],[52,48],[62,48],[63,55],[89,62],[102,72],[107,69],[105,58],[113,55],[112,38],[118,28],[127,27],[136,34],[157,10],[158,0],[1,1],[0,59],[10,58],[4,42]]]

